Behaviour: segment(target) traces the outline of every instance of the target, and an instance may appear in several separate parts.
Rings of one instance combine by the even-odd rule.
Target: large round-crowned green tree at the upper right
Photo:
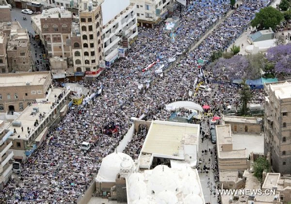
[[[268,6],[256,13],[256,17],[251,21],[252,27],[257,27],[258,30],[272,28],[275,30],[276,25],[284,19],[283,13],[277,9]]]

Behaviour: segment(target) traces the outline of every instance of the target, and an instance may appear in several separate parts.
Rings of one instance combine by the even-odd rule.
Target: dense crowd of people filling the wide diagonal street
[[[210,106],[208,111],[218,116],[227,105],[238,106],[240,88],[224,80],[219,84],[214,83],[205,66],[198,68],[197,60],[207,62],[213,51],[225,50],[263,6],[262,0],[242,0],[242,4],[230,16],[226,16],[229,0],[192,1],[181,10],[182,29],[179,29],[175,42],[171,42],[169,33],[163,32],[164,23],[154,29],[139,28],[139,38],[126,58],[119,59],[110,69],[103,71],[96,81],[79,82],[90,93],[96,93],[99,87],[103,91],[94,98],[91,107],[89,104],[74,106],[58,127],[49,131],[48,141],[43,142],[22,164],[19,180],[12,179],[0,192],[2,202],[76,203],[97,174],[102,158],[112,153],[127,133],[131,117],[145,114],[146,120],[167,120],[171,112],[165,110],[165,105],[178,100],[194,101],[201,106],[207,104]],[[175,15],[180,16],[179,9]],[[176,66],[163,75],[154,73],[177,52],[183,52],[197,41],[211,23],[221,16],[226,16],[226,19]],[[142,71],[157,58],[160,58],[160,62]],[[154,78],[157,78],[156,83],[146,86],[148,80]],[[201,82],[208,84],[212,91],[196,89],[196,84]],[[139,89],[139,84],[145,84],[145,87]],[[61,84],[55,82],[54,86]],[[189,91],[193,91],[193,94],[190,95]],[[262,92],[254,91],[253,94],[252,102],[261,103]],[[201,121],[203,137],[209,132],[206,127],[208,118],[204,120]],[[124,152],[136,159],[146,133],[146,126],[141,126]],[[98,140],[98,145],[87,152],[81,151],[81,143],[92,139]],[[205,140],[208,140],[207,137]],[[215,159],[214,150],[207,151],[207,154],[211,154],[211,151],[213,157],[209,159]],[[215,163],[201,162],[202,170],[217,170]],[[214,175],[217,180],[217,173]],[[218,188],[215,184],[209,185],[211,189]]]

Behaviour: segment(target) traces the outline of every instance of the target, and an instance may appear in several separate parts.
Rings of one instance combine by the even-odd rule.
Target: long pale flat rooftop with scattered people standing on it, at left
[[[21,122],[21,126],[23,126],[23,132],[21,130],[21,126],[10,126],[7,127],[7,129],[14,130],[16,129],[16,133],[12,134],[9,138],[10,139],[23,139],[23,140],[28,140],[29,137],[32,135],[32,133],[35,130],[34,122],[36,119],[39,121],[39,126],[41,125],[42,121],[45,121],[48,117],[51,111],[54,109],[51,109],[51,105],[53,102],[56,101],[56,98],[54,97],[55,95],[59,95],[61,93],[64,93],[64,89],[58,89],[54,88],[52,91],[49,91],[49,94],[47,97],[43,100],[37,100],[40,102],[33,103],[31,106],[28,106],[25,110],[23,110],[20,115],[14,120],[14,122]],[[68,94],[69,92],[66,92]],[[63,96],[64,98],[64,96]],[[47,101],[48,99],[48,101]],[[35,115],[32,114],[33,108],[38,108],[39,112],[36,113]],[[44,114],[45,116],[42,120],[39,119],[39,113]],[[31,129],[30,135],[28,135],[28,130],[27,128]]]

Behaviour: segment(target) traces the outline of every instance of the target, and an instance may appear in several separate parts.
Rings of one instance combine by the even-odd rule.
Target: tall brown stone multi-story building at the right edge
[[[264,154],[276,173],[291,173],[291,82],[264,85]]]

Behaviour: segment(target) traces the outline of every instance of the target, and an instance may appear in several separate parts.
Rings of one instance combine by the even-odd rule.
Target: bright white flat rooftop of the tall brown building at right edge
[[[266,84],[267,89],[275,93],[278,99],[291,98],[291,82],[279,81],[276,83]]]

